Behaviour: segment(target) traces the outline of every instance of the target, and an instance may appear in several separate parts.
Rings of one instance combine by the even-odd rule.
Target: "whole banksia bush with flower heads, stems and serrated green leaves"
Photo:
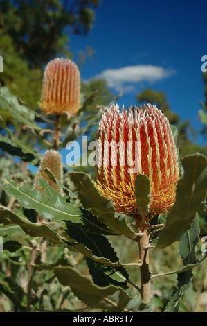
[[[112,105],[100,118],[100,110],[87,112],[93,92],[77,114],[78,123],[87,123],[76,128],[77,117],[64,123],[62,112],[70,116],[79,108],[79,78],[71,60],[48,63],[40,106],[54,116],[46,129],[39,112],[0,88],[3,110],[17,120],[10,129],[0,119],[0,310],[123,312],[129,322],[134,312],[199,311],[204,291],[195,289],[205,289],[207,257],[206,157],[179,160],[177,128],[150,104],[129,112]],[[97,141],[85,141],[93,126]],[[50,149],[36,174],[30,166],[42,144]],[[58,149],[64,146],[74,169],[62,162]],[[177,279],[168,283],[172,274]],[[153,284],[159,277],[164,282]],[[111,320],[105,315],[104,321]]]

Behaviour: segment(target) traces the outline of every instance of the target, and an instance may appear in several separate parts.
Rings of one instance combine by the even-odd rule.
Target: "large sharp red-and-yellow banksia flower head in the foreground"
[[[161,110],[148,104],[128,113],[112,105],[102,115],[96,137],[96,186],[113,201],[116,212],[138,215],[138,173],[150,180],[150,215],[168,212],[175,201],[179,166],[170,123]]]

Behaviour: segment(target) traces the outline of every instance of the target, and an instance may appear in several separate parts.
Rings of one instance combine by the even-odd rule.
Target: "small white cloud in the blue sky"
[[[134,65],[118,69],[107,69],[95,76],[104,78],[108,86],[117,92],[132,92],[138,83],[155,83],[163,78],[176,74],[174,69],[165,69],[153,65]]]

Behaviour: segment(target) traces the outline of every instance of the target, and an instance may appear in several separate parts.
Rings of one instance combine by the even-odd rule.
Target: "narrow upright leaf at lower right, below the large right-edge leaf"
[[[196,217],[190,230],[182,235],[179,241],[179,250],[183,259],[183,265],[189,266],[190,264],[196,264],[197,259],[195,257],[195,247],[199,243],[199,218]],[[165,305],[165,312],[177,312],[179,311],[180,300],[183,293],[190,287],[192,280],[192,268],[183,271],[178,274],[177,289],[170,295],[168,304]]]

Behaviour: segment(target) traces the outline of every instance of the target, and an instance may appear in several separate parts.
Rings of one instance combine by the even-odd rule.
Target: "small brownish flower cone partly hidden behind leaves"
[[[62,182],[62,157],[59,152],[51,149],[47,150],[41,159],[33,189],[41,190],[44,193],[44,189],[38,185],[38,182],[40,179],[46,179],[48,184],[62,195],[62,188],[49,178],[48,174],[44,171],[46,168],[50,169],[55,175],[55,178]]]

